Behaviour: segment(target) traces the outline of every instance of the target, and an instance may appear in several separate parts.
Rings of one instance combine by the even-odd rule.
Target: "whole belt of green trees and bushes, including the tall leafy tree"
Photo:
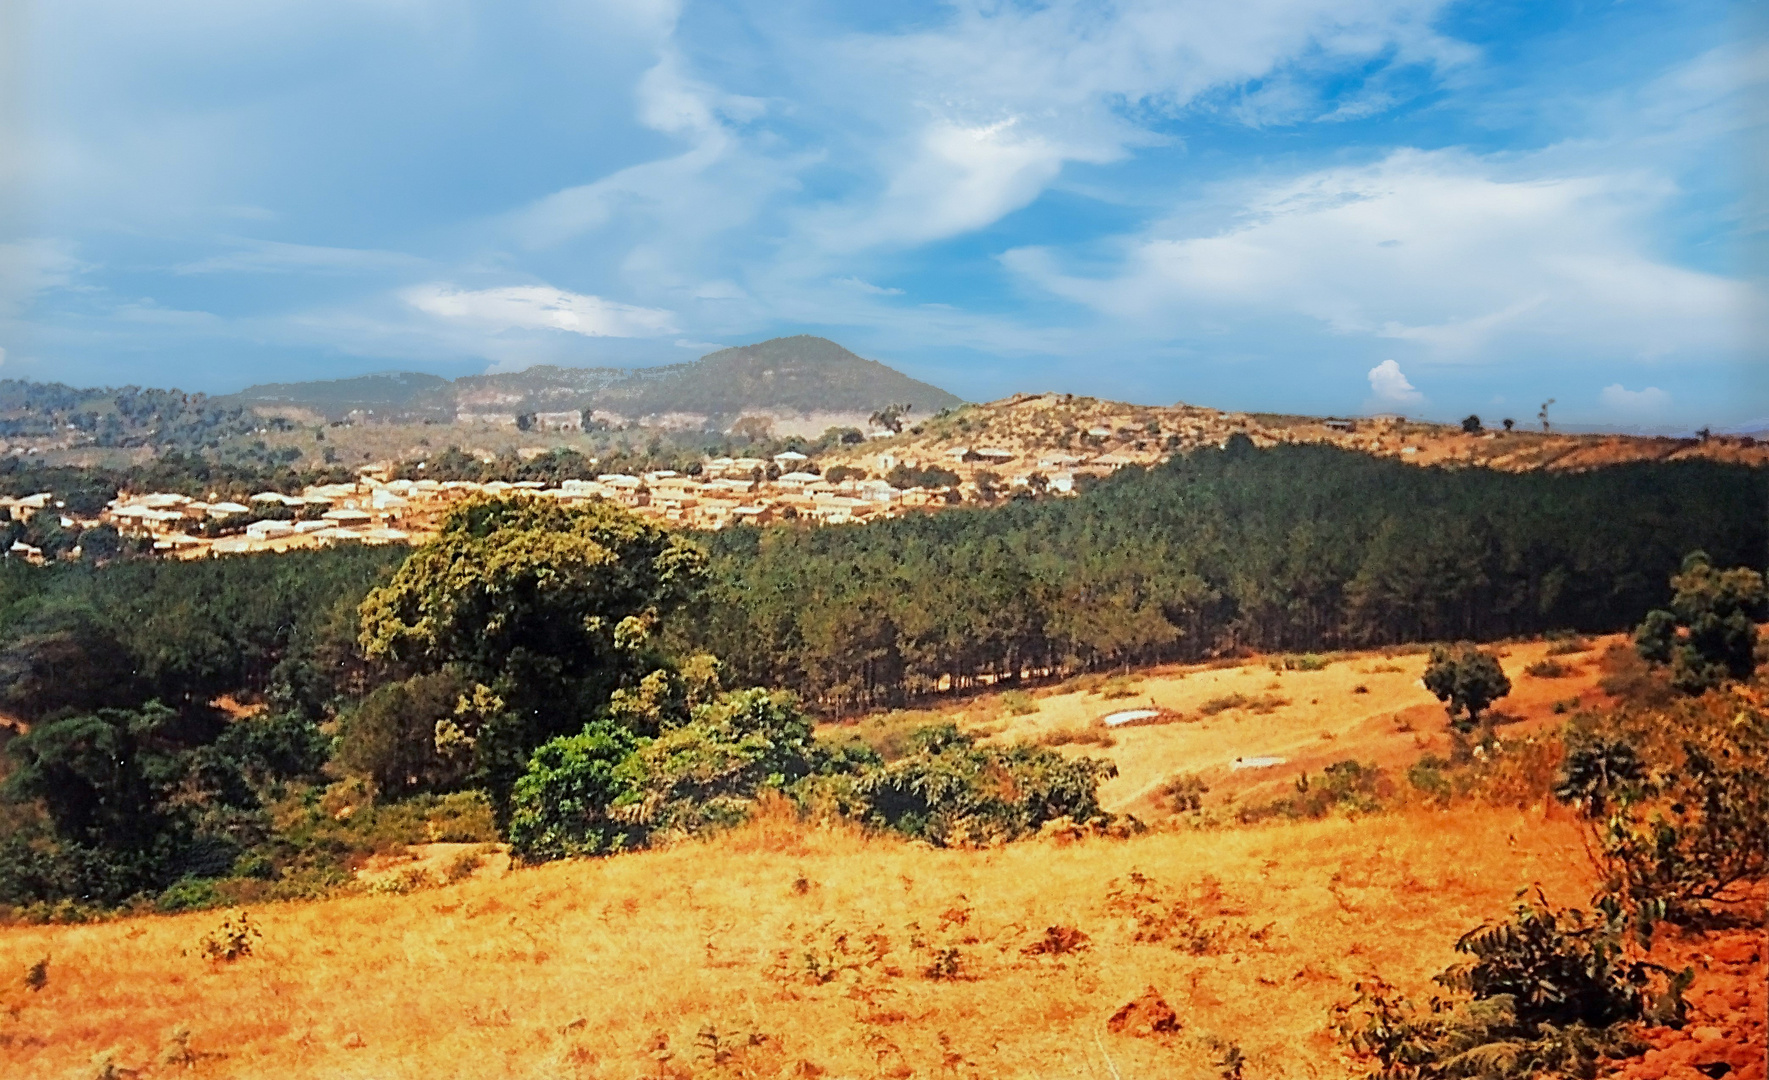
[[[0,725],[0,905],[318,894],[442,836],[617,850],[764,788],[1012,838],[1097,813],[1093,765],[955,732],[883,760],[812,739],[801,707],[1624,629],[1691,550],[1762,567],[1765,507],[1769,472],[1714,463],[1512,475],[1231,442],[1079,498],[863,527],[683,536],[479,500],[417,553],[0,560],[0,712],[27,728]]]

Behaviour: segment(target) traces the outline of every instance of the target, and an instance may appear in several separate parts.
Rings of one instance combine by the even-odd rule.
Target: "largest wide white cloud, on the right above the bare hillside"
[[[1520,348],[1659,359],[1742,350],[1751,288],[1654,258],[1650,175],[1555,175],[1528,159],[1401,150],[1242,193],[1226,226],[1175,214],[1120,240],[1104,276],[1031,247],[1008,269],[1159,332],[1201,315],[1302,316],[1336,334],[1482,362]]]

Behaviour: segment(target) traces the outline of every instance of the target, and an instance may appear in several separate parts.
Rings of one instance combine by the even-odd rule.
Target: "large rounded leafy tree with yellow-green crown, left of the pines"
[[[651,633],[704,574],[690,541],[607,504],[474,498],[363,601],[363,649],[463,684],[437,742],[502,801],[529,753],[662,666]]]

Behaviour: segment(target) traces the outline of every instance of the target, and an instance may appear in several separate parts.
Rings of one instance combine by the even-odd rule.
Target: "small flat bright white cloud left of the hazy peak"
[[[400,295],[428,315],[494,331],[568,331],[586,338],[651,338],[676,331],[669,311],[619,304],[550,285],[481,290],[417,285]]]

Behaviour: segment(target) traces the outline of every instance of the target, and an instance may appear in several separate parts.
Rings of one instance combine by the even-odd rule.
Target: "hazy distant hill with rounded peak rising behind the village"
[[[729,428],[741,415],[828,419],[863,417],[890,403],[930,415],[962,401],[826,338],[775,338],[725,348],[690,364],[663,368],[552,368],[508,375],[387,373],[333,382],[249,387],[228,398],[255,408],[290,408],[341,419],[483,417],[524,412],[596,410],[609,419],[678,428]]]

